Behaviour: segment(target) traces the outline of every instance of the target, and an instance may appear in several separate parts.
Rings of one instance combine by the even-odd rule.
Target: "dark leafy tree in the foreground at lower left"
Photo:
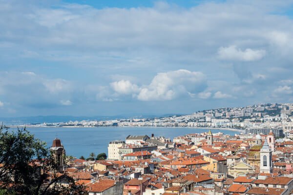
[[[8,131],[0,127],[0,189],[3,195],[80,195],[84,186],[57,172],[46,143],[25,128]],[[63,181],[68,186],[59,183]]]

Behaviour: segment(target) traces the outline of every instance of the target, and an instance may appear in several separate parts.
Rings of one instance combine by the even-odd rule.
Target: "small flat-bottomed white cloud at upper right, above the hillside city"
[[[256,61],[262,59],[265,55],[265,50],[252,50],[247,48],[242,51],[235,45],[220,47],[218,49],[218,58],[225,60]]]

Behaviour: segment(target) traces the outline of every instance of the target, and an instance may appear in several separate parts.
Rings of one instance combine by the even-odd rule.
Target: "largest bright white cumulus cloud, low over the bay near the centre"
[[[148,86],[141,88],[137,98],[142,101],[171,100],[202,91],[205,87],[206,76],[201,72],[169,71],[157,74]]]

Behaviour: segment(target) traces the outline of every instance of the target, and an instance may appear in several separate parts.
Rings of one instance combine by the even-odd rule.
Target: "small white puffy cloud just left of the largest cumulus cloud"
[[[119,94],[133,94],[139,90],[138,86],[136,84],[132,84],[129,80],[111,82],[110,86]]]

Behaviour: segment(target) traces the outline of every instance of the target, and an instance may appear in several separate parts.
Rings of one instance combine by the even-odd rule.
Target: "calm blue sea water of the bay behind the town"
[[[207,132],[207,129],[192,128],[148,128],[148,127],[97,127],[97,128],[27,128],[35,137],[45,141],[50,147],[55,137],[61,139],[66,150],[66,155],[88,157],[90,153],[107,153],[108,143],[112,140],[125,140],[128,135],[148,135],[154,134],[156,137],[183,136],[190,133]],[[228,130],[211,130],[212,133],[222,132],[234,135],[237,132]]]

